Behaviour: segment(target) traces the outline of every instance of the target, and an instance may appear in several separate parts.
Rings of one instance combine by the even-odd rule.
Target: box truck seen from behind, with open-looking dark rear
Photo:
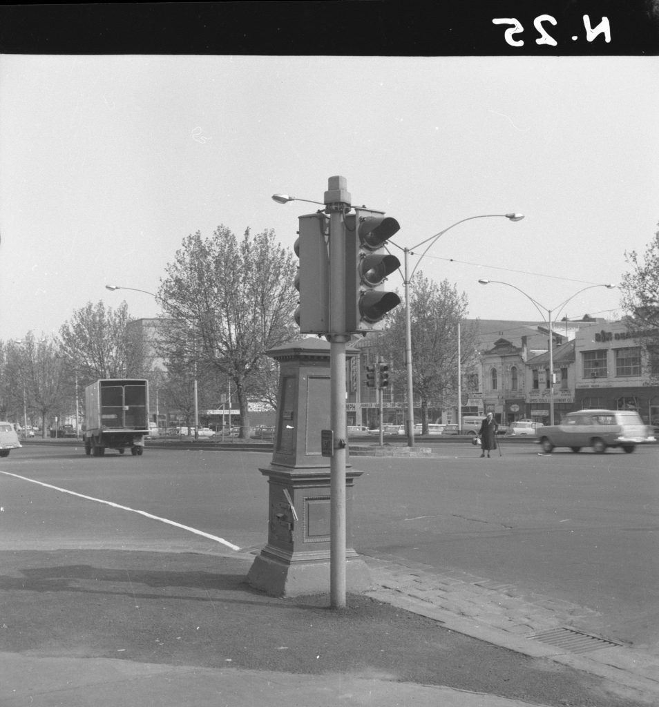
[[[144,451],[148,436],[148,381],[104,378],[85,388],[85,453],[102,457],[106,449],[133,455]]]

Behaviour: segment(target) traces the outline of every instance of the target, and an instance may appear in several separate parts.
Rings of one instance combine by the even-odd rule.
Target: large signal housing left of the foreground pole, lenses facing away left
[[[300,216],[294,250],[300,259],[295,286],[300,293],[295,320],[302,334],[329,332],[329,218],[325,214]]]

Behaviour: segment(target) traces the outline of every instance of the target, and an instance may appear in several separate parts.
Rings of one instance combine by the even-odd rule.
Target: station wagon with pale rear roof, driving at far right
[[[573,452],[590,447],[597,454],[610,447],[621,447],[629,453],[637,444],[650,441],[641,416],[631,410],[570,412],[559,425],[542,427],[537,437],[547,454],[555,447],[569,447]]]

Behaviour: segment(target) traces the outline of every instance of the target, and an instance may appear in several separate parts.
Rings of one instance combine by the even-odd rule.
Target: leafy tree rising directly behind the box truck
[[[61,354],[78,371],[81,382],[126,378],[141,369],[143,351],[137,337],[127,331],[129,321],[125,302],[112,310],[100,301],[74,310],[71,320],[62,325]]]

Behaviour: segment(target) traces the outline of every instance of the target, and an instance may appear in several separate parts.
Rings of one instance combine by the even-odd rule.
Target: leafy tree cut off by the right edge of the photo
[[[659,225],[659,224],[658,224]],[[635,250],[625,253],[631,271],[623,274],[621,305],[629,317],[629,331],[641,344],[653,378],[659,378],[659,231],[643,258]]]

